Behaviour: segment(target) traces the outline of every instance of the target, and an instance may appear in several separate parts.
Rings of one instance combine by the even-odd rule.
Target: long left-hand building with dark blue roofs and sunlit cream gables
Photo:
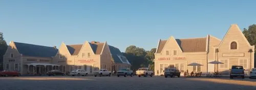
[[[59,49],[11,41],[3,63],[5,70],[19,71],[22,75],[46,74],[53,69],[66,73],[84,69],[91,74],[101,68],[117,71],[131,67],[118,48],[95,41],[78,45],[62,43]]]

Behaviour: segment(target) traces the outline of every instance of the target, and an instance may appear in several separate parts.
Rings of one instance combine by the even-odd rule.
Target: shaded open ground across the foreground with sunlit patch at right
[[[256,79],[164,77],[0,77],[0,89],[256,89]]]

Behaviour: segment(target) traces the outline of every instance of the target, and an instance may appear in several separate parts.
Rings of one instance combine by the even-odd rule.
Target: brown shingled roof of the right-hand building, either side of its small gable
[[[203,52],[206,51],[206,37],[193,39],[176,39],[183,52]],[[161,53],[167,40],[160,40],[157,53]]]

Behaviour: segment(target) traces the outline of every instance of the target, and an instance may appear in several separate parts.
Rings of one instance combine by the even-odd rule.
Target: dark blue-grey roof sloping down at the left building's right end
[[[111,55],[112,55],[112,57],[113,57],[113,59],[114,59],[114,62],[115,62],[115,63],[122,63],[122,62],[121,62],[121,59],[118,57],[118,55],[119,55],[119,56],[122,56],[122,57],[125,57],[125,56],[122,54],[122,52],[121,52],[118,48],[113,47],[113,46],[111,46],[111,45],[109,45],[109,48],[110,48],[110,53],[111,53]],[[126,58],[126,57],[125,57],[125,58]],[[127,61],[127,62],[129,62],[129,61]]]

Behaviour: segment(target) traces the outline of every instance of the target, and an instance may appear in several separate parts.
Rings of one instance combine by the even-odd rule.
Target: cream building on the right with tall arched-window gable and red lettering
[[[249,50],[252,52],[248,52]],[[228,74],[232,65],[241,65],[246,71],[254,67],[254,46],[251,46],[237,24],[232,24],[222,40],[207,35],[202,38],[159,40],[155,53],[155,75],[162,75],[166,68],[178,68],[182,75],[188,70],[214,72],[218,69]],[[219,61],[224,64],[208,64]],[[203,66],[187,66],[198,63]]]

